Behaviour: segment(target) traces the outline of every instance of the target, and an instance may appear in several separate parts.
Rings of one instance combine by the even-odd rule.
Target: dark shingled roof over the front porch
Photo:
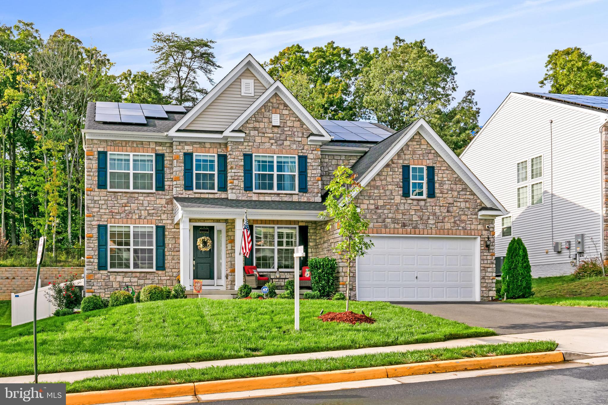
[[[325,211],[323,203],[302,201],[229,200],[223,198],[173,197],[182,208],[271,209],[289,211]]]

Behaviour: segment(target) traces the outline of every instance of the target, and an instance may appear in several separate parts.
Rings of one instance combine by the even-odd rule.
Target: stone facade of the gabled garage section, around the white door
[[[402,165],[435,166],[436,197],[402,197]],[[359,193],[355,203],[364,211],[365,218],[370,220],[370,235],[479,236],[482,299],[489,300],[495,296],[494,220],[478,219],[477,211],[482,208],[482,201],[420,134],[414,135],[381,169]],[[487,236],[492,241],[490,248],[485,246]],[[337,230],[322,233],[320,247],[330,252],[337,238]],[[345,276],[345,265],[340,264],[340,285],[344,285]],[[355,293],[354,271],[351,272],[351,285],[352,297]]]

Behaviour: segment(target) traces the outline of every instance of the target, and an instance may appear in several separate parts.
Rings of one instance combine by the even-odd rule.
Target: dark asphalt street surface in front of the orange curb
[[[606,404],[608,365],[500,374],[382,387],[268,396],[218,404]]]

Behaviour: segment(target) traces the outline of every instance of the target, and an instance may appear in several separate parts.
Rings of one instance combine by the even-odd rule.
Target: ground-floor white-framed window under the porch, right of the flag
[[[294,270],[297,226],[254,227],[255,266],[260,270]]]

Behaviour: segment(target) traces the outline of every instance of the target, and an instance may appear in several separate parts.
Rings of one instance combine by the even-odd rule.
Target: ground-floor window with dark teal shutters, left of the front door
[[[153,270],[154,226],[109,225],[109,270]]]

